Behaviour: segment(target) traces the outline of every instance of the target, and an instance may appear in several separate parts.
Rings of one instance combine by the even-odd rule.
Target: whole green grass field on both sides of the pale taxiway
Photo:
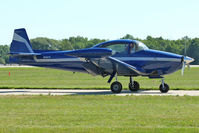
[[[10,72],[10,76],[9,76]],[[1,68],[0,88],[109,89],[108,77],[44,68]],[[127,89],[129,78],[118,78]],[[160,80],[136,77],[142,89]],[[166,76],[172,89],[199,89],[199,68]],[[0,133],[199,132],[199,97],[0,96]]]

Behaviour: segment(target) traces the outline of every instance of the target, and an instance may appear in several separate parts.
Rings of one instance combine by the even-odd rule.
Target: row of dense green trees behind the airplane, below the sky
[[[135,38],[130,34],[121,39],[139,40],[145,43],[149,48],[172,52],[181,55],[187,55],[195,59],[192,64],[199,64],[199,38],[183,37],[178,40],[163,39],[162,37],[147,36],[146,39]],[[89,48],[98,43],[107,41],[105,39],[88,39],[86,37],[70,37],[68,39],[55,40],[44,37],[31,39],[33,49],[37,50],[72,50]],[[186,44],[186,52],[185,52]],[[9,63],[9,45],[0,45],[0,63]]]

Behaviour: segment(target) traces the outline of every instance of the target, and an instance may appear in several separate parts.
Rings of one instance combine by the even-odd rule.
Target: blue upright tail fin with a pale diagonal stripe
[[[15,29],[10,46],[11,54],[33,54],[28,35],[25,29]]]

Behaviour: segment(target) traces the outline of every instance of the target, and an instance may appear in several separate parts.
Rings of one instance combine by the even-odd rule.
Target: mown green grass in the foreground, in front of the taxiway
[[[1,133],[199,132],[199,97],[0,96]]]

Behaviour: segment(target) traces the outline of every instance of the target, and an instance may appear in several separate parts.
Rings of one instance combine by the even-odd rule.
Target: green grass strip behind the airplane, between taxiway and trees
[[[46,68],[1,68],[0,88],[109,89],[108,78]],[[129,78],[118,77],[118,80],[127,89]],[[134,80],[142,89],[158,89],[160,85],[160,79],[135,77]],[[171,89],[199,89],[199,68],[186,69],[184,76],[181,71],[167,75],[165,82]]]

